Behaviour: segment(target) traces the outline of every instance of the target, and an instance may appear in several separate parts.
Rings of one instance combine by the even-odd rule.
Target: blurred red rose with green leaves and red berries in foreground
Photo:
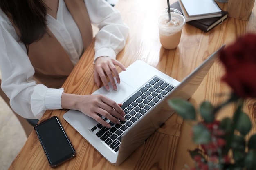
[[[256,98],[256,35],[238,38],[220,52],[220,61],[225,66],[221,80],[232,89],[227,101],[218,106],[204,101],[195,108],[174,98],[168,104],[185,121],[194,122],[192,139],[199,147],[189,151],[195,162],[190,170],[256,170],[256,134],[245,138],[252,122],[243,112],[245,100]],[[236,107],[232,117],[217,120],[218,112],[228,104]]]

